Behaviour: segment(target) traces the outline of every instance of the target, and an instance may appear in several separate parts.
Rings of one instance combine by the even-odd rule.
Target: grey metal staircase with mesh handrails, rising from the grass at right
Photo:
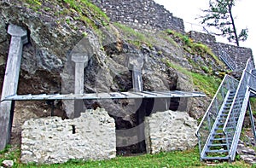
[[[240,81],[224,77],[196,130],[202,160],[235,159],[249,97],[255,90],[256,70],[250,59]]]

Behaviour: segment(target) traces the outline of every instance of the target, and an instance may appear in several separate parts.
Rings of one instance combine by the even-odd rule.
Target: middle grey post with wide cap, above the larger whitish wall
[[[88,56],[80,53],[73,54],[71,60],[75,63],[74,94],[84,94],[84,67],[87,67]],[[84,112],[84,101],[74,101],[74,118]]]

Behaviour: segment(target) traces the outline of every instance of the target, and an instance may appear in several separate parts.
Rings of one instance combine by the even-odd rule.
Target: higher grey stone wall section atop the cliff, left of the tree
[[[90,0],[108,14],[112,21],[145,29],[172,29],[185,32],[183,20],[174,17],[153,0]]]

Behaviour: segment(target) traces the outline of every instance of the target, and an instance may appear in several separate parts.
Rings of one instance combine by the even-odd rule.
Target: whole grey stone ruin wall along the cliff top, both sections
[[[163,5],[154,0],[90,0],[102,11],[108,14],[110,20],[120,22],[143,31],[172,29],[185,33],[183,19],[174,17]],[[219,45],[236,62],[238,67],[244,67],[249,57],[253,58],[252,50],[236,47],[226,43],[217,43],[212,35],[201,32],[189,32],[191,38],[206,43],[218,55]]]

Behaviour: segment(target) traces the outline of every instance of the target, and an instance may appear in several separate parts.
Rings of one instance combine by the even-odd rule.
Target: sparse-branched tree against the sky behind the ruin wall
[[[232,8],[235,0],[209,0],[209,9],[202,10],[206,15],[201,16],[201,24],[214,26],[217,32],[213,34],[226,37],[230,42],[239,46],[239,41],[247,40],[248,29],[241,29],[238,34]]]

